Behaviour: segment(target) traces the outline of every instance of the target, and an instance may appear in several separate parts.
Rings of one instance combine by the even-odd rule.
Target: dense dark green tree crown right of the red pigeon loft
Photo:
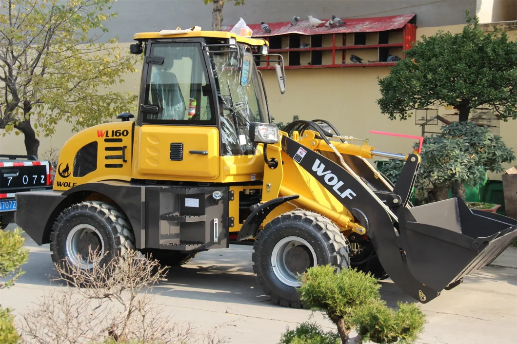
[[[517,42],[495,28],[485,34],[467,11],[462,33],[422,36],[406,58],[379,80],[381,112],[407,119],[417,108],[454,106],[460,122],[470,110],[491,108],[502,120],[517,119]]]

